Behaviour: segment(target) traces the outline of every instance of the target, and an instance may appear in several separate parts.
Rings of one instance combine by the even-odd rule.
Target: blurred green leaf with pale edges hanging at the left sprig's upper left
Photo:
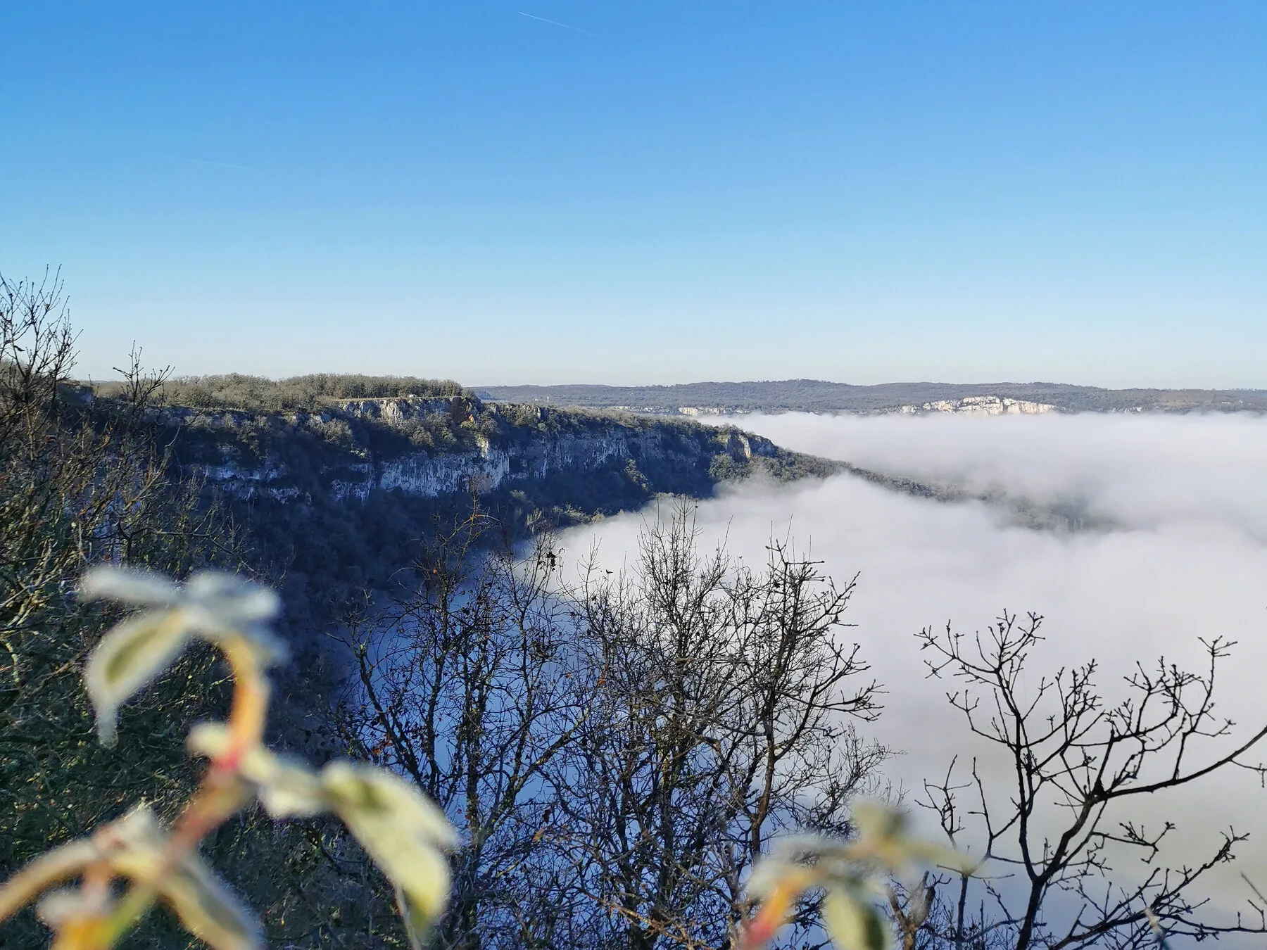
[[[157,679],[189,643],[181,611],[155,611],[124,621],[96,645],[84,669],[101,745],[113,746],[119,707]]]

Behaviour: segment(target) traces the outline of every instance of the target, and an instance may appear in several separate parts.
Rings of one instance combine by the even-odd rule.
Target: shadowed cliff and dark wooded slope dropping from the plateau
[[[291,604],[289,631],[309,641],[332,609],[362,588],[383,588],[437,519],[460,519],[475,497],[522,540],[636,510],[661,494],[707,498],[722,481],[824,476],[836,467],[689,419],[465,394],[337,400],[313,412],[163,405],[150,418],[172,446],[174,464],[204,476],[210,495],[246,527],[253,562],[279,579]],[[504,475],[495,484],[487,476],[490,457],[500,459]],[[450,490],[408,478],[384,486],[384,470],[411,460],[404,475],[438,467]]]

